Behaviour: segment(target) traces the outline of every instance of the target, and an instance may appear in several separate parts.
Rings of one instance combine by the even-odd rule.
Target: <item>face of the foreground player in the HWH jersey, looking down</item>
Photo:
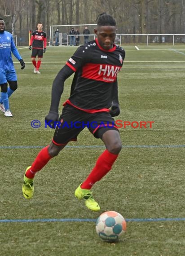
[[[97,35],[98,43],[105,50],[113,48],[116,35],[115,26],[98,26],[97,29],[94,29],[95,34]]]

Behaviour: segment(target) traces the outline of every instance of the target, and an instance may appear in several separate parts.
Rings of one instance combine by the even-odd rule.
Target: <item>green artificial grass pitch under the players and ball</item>
[[[114,210],[126,219],[185,218],[185,47],[126,46],[119,72],[119,102],[124,121],[154,121],[152,128],[120,128],[123,149],[113,169],[94,185],[101,212]],[[26,68],[15,60],[18,90],[10,98],[13,118],[0,113],[0,219],[97,219],[74,197],[76,187],[103,151],[101,140],[84,129],[77,142],[35,176],[34,198],[22,196],[22,177],[53,130],[44,128],[52,82],[76,47],[48,47],[41,75],[33,73],[31,51],[20,49]],[[184,53],[184,54],[183,54]],[[59,63],[61,62],[61,63]],[[70,93],[66,80],[60,104]],[[38,119],[40,128],[31,127]],[[142,147],[142,146],[159,147]],[[6,148],[9,146],[9,148]],[[128,146],[128,147],[127,147]],[[132,146],[132,147],[131,147]],[[164,146],[164,147],[163,147]],[[2,256],[184,256],[185,221],[127,223],[119,243],[98,238],[94,222],[0,222]]]

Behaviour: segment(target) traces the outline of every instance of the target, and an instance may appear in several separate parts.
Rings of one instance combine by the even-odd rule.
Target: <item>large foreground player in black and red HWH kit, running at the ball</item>
[[[78,134],[87,127],[94,137],[104,142],[106,150],[99,156],[86,180],[75,190],[75,197],[84,199],[88,209],[100,210],[91,188],[110,171],[122,147],[112,117],[119,115],[117,74],[123,66],[125,52],[114,44],[116,22],[109,14],[102,13],[98,17],[94,32],[97,38],[80,46],[53,81],[51,106],[45,122],[53,128],[56,123],[60,125],[55,129],[51,144],[43,148],[26,169],[22,184],[26,199],[33,196],[35,173],[57,156],[69,141],[76,141]],[[62,115],[58,119],[64,81],[74,72],[70,97],[63,104]],[[96,126],[92,125],[95,123]]]

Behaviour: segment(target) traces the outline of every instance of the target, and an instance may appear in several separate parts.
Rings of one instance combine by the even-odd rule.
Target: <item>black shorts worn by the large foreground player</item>
[[[79,133],[87,127],[95,138],[101,138],[107,130],[117,130],[115,120],[109,112],[87,113],[66,105],[62,110],[59,122],[55,124],[53,143],[66,145],[69,141],[77,141]]]

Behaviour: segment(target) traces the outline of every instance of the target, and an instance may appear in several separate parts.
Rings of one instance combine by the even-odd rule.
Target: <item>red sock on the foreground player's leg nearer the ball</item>
[[[117,157],[118,154],[112,154],[108,150],[105,150],[97,159],[95,167],[83,182],[81,188],[90,190],[95,182],[100,181],[110,171]]]

